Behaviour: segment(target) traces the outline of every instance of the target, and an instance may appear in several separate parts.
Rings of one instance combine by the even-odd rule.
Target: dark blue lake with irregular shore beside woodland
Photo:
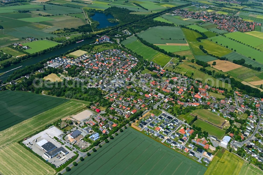
[[[101,12],[95,12],[95,15],[92,16],[92,19],[99,22],[99,25],[97,26],[98,29],[105,28],[107,26],[114,26],[119,23],[111,23],[108,21],[108,19],[114,18],[111,14],[105,15],[105,13]]]

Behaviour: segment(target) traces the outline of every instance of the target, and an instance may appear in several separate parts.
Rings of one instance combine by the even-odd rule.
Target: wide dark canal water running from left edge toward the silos
[[[30,65],[33,65],[33,64],[36,64],[44,59],[47,59],[47,58],[50,58],[51,56],[54,56],[54,55],[60,55],[60,54],[63,54],[65,52],[67,52],[68,50],[71,50],[71,49],[74,49],[75,47],[78,47],[78,46],[82,46],[84,44],[88,44],[90,43],[92,40],[94,40],[94,38],[91,38],[91,39],[85,39],[83,42],[80,42],[80,43],[73,43],[73,44],[70,44],[70,45],[67,45],[67,46],[64,46],[62,48],[59,48],[59,49],[56,49],[56,50],[53,50],[51,52],[48,52],[46,54],[43,54],[43,55],[39,55],[39,56],[36,56],[34,58],[31,58],[31,59],[28,59],[26,61],[23,61],[21,63],[18,63],[18,64],[14,64],[12,66],[9,66],[7,68],[3,68],[3,69],[0,69],[0,73],[3,73],[3,72],[6,72],[6,71],[9,71],[9,70],[12,70],[14,68],[17,68],[19,66],[22,66],[21,68],[18,68],[18,69],[23,69],[25,68],[26,66],[30,66]],[[6,79],[8,78],[8,75],[11,75],[14,71],[18,70],[18,69],[15,69],[15,70],[12,70],[2,76],[0,76],[0,80],[3,80],[3,81],[6,81]]]

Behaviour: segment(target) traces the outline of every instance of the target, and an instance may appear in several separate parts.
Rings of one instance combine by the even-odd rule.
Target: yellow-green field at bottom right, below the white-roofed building
[[[225,151],[222,157],[218,157],[218,155],[214,157],[213,161],[205,172],[205,175],[239,175],[243,163],[244,160],[230,153],[229,151]]]

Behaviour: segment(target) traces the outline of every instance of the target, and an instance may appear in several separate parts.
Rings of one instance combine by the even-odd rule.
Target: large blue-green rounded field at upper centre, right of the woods
[[[157,26],[139,33],[138,36],[152,44],[186,43],[180,27]]]

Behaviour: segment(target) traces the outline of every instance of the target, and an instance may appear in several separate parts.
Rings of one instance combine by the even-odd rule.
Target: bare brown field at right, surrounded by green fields
[[[216,65],[212,66],[214,61],[216,62]],[[227,71],[242,67],[241,65],[232,63],[230,61],[225,61],[225,60],[214,60],[214,61],[209,61],[207,63],[211,64],[213,68],[222,70],[223,72],[227,72]]]

